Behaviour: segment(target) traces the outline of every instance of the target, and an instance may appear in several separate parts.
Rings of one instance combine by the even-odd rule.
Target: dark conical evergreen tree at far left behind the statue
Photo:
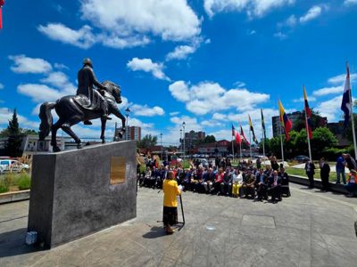
[[[10,157],[21,157],[21,130],[19,127],[19,120],[17,117],[16,109],[13,110],[12,119],[9,120],[9,125],[7,126],[7,132],[9,134],[6,143],[6,153]]]

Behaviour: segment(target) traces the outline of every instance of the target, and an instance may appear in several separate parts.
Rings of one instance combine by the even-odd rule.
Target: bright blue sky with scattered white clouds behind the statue
[[[357,82],[357,0],[19,0],[3,17],[2,128],[16,107],[21,127],[37,129],[39,104],[76,92],[85,57],[121,86],[129,125],[166,144],[183,121],[229,140],[231,123],[248,131],[248,114],[261,136],[261,108],[270,136],[278,99],[303,109],[303,85],[310,106],[337,121],[345,61]],[[74,129],[100,134],[99,122]]]

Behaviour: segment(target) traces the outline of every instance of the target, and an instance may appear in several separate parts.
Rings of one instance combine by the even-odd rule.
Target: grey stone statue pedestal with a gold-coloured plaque
[[[136,216],[136,142],[34,156],[28,231],[46,247]]]

